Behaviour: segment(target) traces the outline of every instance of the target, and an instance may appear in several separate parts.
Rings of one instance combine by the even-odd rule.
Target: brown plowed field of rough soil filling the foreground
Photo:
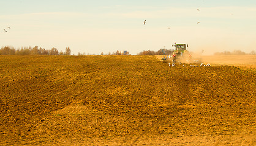
[[[0,56],[0,145],[255,145],[256,72]]]

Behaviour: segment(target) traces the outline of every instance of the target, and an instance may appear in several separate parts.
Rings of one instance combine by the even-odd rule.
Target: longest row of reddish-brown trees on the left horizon
[[[55,47],[50,50],[44,49],[42,47],[21,47],[21,49],[15,49],[14,47],[5,46],[1,47],[0,55],[70,55],[71,50],[66,47],[66,51],[62,52]]]

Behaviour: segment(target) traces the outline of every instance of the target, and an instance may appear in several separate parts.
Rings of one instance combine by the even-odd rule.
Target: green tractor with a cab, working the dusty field
[[[175,49],[173,50],[173,55],[171,56],[173,58],[173,62],[176,60],[186,60],[189,61],[191,59],[191,55],[189,54],[189,51],[187,50],[187,47],[189,47],[188,44],[173,44],[173,47]]]

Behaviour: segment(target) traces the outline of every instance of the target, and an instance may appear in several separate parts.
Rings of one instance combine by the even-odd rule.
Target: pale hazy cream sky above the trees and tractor
[[[256,50],[255,0],[1,0],[0,5],[0,47],[137,54],[187,43],[188,50],[205,55]]]

